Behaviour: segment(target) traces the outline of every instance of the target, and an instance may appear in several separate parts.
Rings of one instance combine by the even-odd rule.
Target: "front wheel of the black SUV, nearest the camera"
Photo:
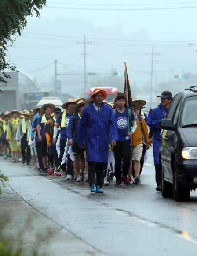
[[[175,166],[173,173],[173,192],[175,201],[190,201],[190,189],[179,185]]]

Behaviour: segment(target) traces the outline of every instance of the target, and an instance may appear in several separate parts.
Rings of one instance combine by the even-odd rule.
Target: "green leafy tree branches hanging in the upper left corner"
[[[0,15],[0,82],[7,83],[5,79],[9,78],[4,71],[17,71],[11,60],[5,60],[8,48],[14,46],[15,36],[21,36],[22,30],[27,25],[27,17],[33,16],[33,11],[39,17],[39,10],[46,5],[47,0],[1,0]],[[18,72],[18,71],[17,71]]]

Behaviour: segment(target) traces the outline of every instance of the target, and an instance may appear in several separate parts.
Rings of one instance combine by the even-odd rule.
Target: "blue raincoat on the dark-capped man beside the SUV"
[[[164,119],[164,114],[168,109],[164,109],[164,107],[159,104],[157,108],[154,108],[147,118],[147,125],[150,128],[154,128],[153,135],[153,157],[154,157],[154,165],[159,164],[159,145],[160,145],[160,133],[161,129],[159,128],[159,121]]]

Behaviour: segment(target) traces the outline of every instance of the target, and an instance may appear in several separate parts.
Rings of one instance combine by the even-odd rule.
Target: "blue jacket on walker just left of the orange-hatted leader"
[[[74,118],[77,119],[77,122],[76,122],[76,125],[75,125],[74,130],[73,130],[73,119],[74,119]],[[69,139],[73,139],[73,143],[77,143],[80,121],[81,121],[81,119],[80,119],[80,117],[78,116],[78,113],[77,113],[77,114],[74,114],[74,115],[73,115],[72,117],[70,117],[70,119],[69,119],[69,125],[68,125],[68,127],[67,127],[66,134],[67,134],[68,140],[69,140]]]

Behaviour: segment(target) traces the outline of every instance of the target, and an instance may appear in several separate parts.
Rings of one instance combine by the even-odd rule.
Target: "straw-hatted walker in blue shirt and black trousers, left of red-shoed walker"
[[[51,117],[51,113],[53,113],[53,109],[55,109],[55,105],[51,103],[44,104],[40,108],[40,116],[37,120],[37,135],[35,137],[36,142],[36,152],[37,152],[37,158],[39,163],[39,171],[42,172],[48,172],[47,169],[47,139],[44,132],[44,126],[47,122],[47,120]],[[36,128],[35,123],[32,124],[32,128]],[[33,130],[34,131],[34,130]]]

